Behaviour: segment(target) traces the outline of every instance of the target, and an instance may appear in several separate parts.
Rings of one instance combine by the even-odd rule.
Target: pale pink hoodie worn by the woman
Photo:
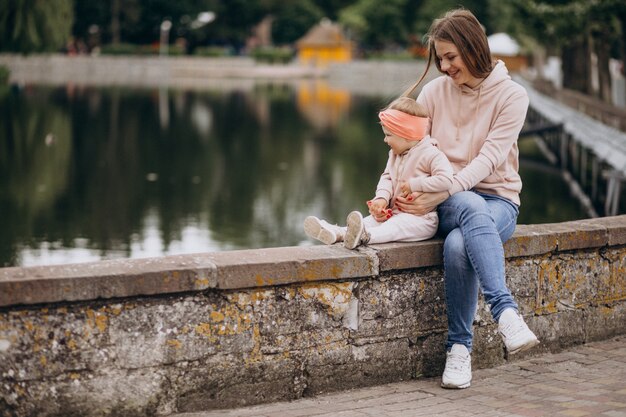
[[[520,204],[517,138],[528,95],[498,61],[476,88],[457,86],[448,76],[426,84],[417,102],[428,110],[430,136],[454,169],[450,195],[475,189]]]

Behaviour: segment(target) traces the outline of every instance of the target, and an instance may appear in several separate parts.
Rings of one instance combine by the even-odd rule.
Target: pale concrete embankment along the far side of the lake
[[[327,68],[255,62],[250,57],[139,57],[0,54],[0,66],[18,85],[90,85],[185,89],[253,88],[326,79],[331,87],[367,95],[394,95],[411,85],[423,61],[352,61]],[[431,71],[431,75],[435,75]]]

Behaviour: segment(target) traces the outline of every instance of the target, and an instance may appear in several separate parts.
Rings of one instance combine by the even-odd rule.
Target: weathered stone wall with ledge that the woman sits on
[[[2,416],[148,416],[439,375],[442,241],[0,269]],[[518,226],[541,345],[626,332],[626,216]],[[481,303],[474,367],[506,358]]]

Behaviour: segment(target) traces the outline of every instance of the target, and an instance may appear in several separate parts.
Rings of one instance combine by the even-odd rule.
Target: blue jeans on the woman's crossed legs
[[[505,282],[502,244],[515,231],[519,208],[502,197],[463,191],[441,203],[438,212],[439,233],[445,236],[446,348],[460,343],[471,352],[479,286],[494,320],[506,308],[517,310]]]

